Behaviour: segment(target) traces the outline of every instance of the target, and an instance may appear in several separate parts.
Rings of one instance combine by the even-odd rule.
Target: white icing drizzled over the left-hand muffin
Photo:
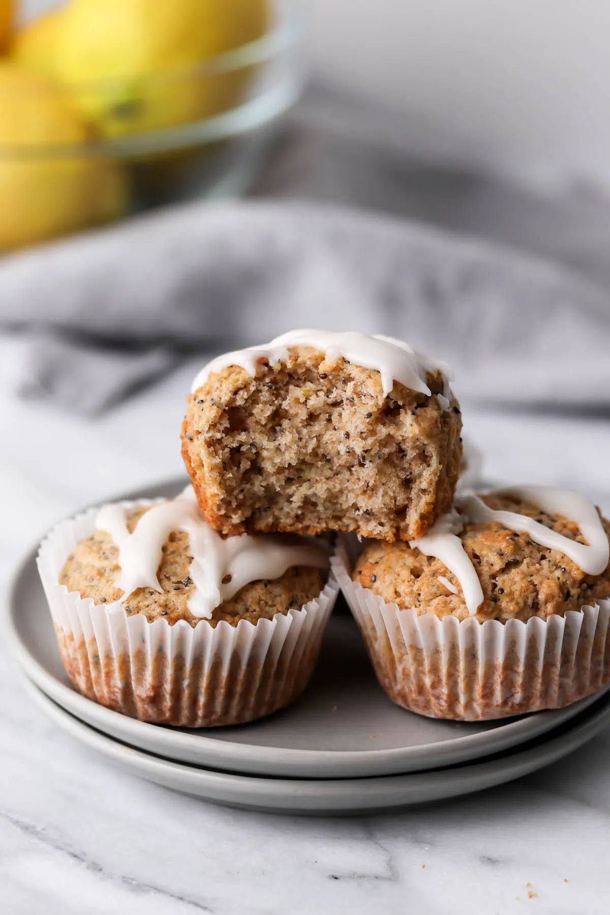
[[[156,577],[163,544],[173,531],[186,531],[193,557],[188,574],[195,585],[188,609],[202,619],[209,619],[214,608],[251,581],[279,578],[291,565],[329,565],[326,550],[319,544],[288,544],[271,534],[243,533],[223,539],[201,517],[191,486],[176,499],[145,511],[133,533],[127,529],[122,505],[104,506],[95,526],[109,533],[119,547],[121,571],[116,584],[123,591],[122,603],[138,587],[163,590]]]

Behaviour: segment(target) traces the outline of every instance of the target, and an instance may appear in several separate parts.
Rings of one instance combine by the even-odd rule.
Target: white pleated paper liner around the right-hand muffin
[[[527,623],[461,622],[387,604],[349,576],[337,581],[392,702],[420,715],[477,721],[562,708],[610,682],[610,600]]]

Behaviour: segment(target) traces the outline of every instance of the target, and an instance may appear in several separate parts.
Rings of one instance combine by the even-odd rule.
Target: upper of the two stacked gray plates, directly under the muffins
[[[183,485],[183,481],[173,481],[117,498],[173,495]],[[314,680],[295,705],[242,727],[187,730],[151,725],[97,705],[70,686],[59,660],[34,555],[29,554],[17,571],[8,601],[8,635],[24,672],[82,721],[169,759],[213,769],[303,778],[430,770],[480,759],[540,737],[599,695],[565,709],[500,722],[436,721],[413,715],[392,705],[383,693],[355,623],[337,604]]]

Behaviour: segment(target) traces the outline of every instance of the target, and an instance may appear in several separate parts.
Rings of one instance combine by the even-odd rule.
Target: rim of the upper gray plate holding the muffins
[[[143,493],[146,495],[156,493],[158,495],[164,490],[176,489],[183,480],[183,477],[159,480],[139,490],[130,490],[119,496],[111,496],[110,501],[118,501],[124,498],[141,498]],[[98,501],[93,504],[102,504],[102,502]],[[68,711],[70,715],[80,718],[89,727],[100,729],[110,737],[121,739],[135,748],[141,748],[141,745],[137,742],[140,735],[144,739],[145,735],[150,734],[151,740],[161,748],[158,750],[160,753],[167,753],[168,748],[179,748],[179,752],[187,752],[190,748],[191,753],[195,753],[195,748],[197,747],[199,760],[202,759],[201,751],[207,756],[205,762],[200,762],[199,764],[205,764],[211,768],[225,768],[261,774],[269,773],[270,767],[272,767],[274,774],[280,776],[293,775],[302,778],[333,777],[328,773],[333,769],[339,770],[341,768],[344,773],[347,770],[350,771],[347,775],[337,775],[335,776],[336,778],[363,777],[361,773],[367,769],[369,769],[369,777],[387,776],[392,773],[404,773],[405,771],[433,770],[472,759],[481,759],[484,756],[519,746],[519,743],[541,737],[551,731],[553,727],[559,727],[563,723],[570,721],[573,716],[578,715],[589,705],[594,704],[597,699],[610,692],[610,684],[606,684],[604,688],[596,693],[585,696],[576,703],[560,709],[546,709],[531,713],[529,716],[508,719],[505,723],[499,723],[504,719],[498,719],[498,727],[481,731],[477,734],[449,737],[433,744],[408,748],[370,748],[360,750],[281,748],[224,739],[219,740],[212,735],[201,733],[203,729],[196,729],[197,732],[189,733],[184,729],[155,725],[151,722],[123,716],[120,712],[115,712],[110,708],[99,705],[78,693],[73,687],[62,683],[37,660],[37,657],[28,649],[25,640],[22,640],[17,621],[19,583],[22,577],[27,576],[31,565],[36,568],[39,544],[40,540],[37,539],[36,544],[30,547],[17,563],[9,581],[7,599],[3,611],[9,648],[16,657],[19,666],[27,674],[27,677],[37,684],[37,687],[47,694],[52,701]],[[390,701],[388,699],[388,702]],[[532,724],[534,720],[538,721],[538,726]],[[116,727],[114,727],[114,724]],[[255,726],[256,723],[252,723],[249,727]],[[112,730],[109,731],[106,728],[112,728]],[[122,737],[114,737],[115,731],[121,732]],[[525,733],[521,733],[523,731]],[[126,734],[129,734],[129,737],[126,737]],[[152,737],[153,735],[155,737]],[[431,754],[431,748],[433,748],[432,752],[436,758],[435,761],[433,763],[422,761],[422,758]],[[156,750],[144,749],[144,752],[156,752]],[[176,756],[173,756],[173,759],[185,761]],[[403,768],[405,765],[408,767],[406,770]],[[357,770],[360,772],[359,776],[356,775]],[[314,775],[316,771],[318,772],[317,776]],[[299,775],[299,773],[301,774]],[[367,776],[365,775],[364,777]]]

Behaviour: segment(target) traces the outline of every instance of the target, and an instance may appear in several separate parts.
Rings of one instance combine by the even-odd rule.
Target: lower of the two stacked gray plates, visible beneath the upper
[[[370,813],[481,791],[562,759],[610,723],[610,699],[605,696],[550,737],[485,762],[369,779],[269,779],[187,766],[126,747],[83,724],[37,686],[26,683],[37,704],[59,727],[123,770],[208,801],[279,813]]]

